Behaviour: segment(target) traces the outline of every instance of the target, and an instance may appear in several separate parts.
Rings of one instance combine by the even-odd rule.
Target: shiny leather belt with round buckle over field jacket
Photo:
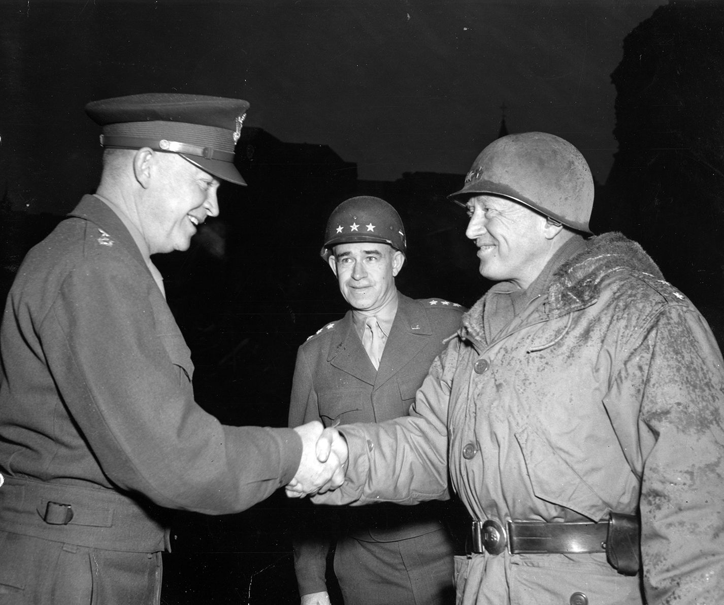
[[[606,551],[608,520],[598,523],[556,523],[495,520],[473,521],[472,551],[500,554],[602,553]]]

